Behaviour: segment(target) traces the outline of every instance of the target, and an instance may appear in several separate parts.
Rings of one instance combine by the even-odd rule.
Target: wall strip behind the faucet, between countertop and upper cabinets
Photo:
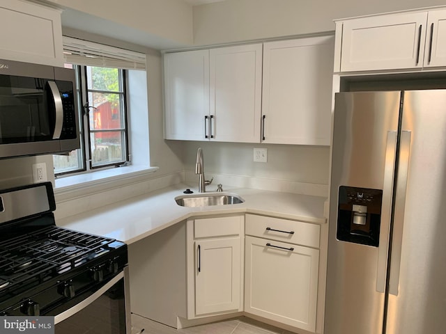
[[[176,141],[168,141],[173,145]],[[197,187],[197,149],[203,149],[206,180],[217,184],[326,196],[330,149],[323,146],[183,142],[174,151],[181,158],[187,182]],[[268,149],[268,162],[254,162],[254,148]],[[321,186],[325,185],[325,186]]]

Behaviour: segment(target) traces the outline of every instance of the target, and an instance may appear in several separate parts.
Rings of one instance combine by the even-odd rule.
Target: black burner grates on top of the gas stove
[[[36,285],[108,253],[115,240],[47,226],[0,244],[0,292]]]

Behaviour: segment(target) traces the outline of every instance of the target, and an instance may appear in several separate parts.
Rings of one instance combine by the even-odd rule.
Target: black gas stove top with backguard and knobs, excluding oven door
[[[58,227],[54,209],[49,182],[0,191],[0,315],[59,315],[127,266],[127,245]]]

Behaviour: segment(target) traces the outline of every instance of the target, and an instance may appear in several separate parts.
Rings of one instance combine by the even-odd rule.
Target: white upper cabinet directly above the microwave
[[[36,3],[2,0],[0,58],[63,67],[61,12]]]

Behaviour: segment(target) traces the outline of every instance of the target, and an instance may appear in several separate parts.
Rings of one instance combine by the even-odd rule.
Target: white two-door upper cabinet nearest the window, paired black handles
[[[259,143],[262,45],[164,54],[164,138]]]

